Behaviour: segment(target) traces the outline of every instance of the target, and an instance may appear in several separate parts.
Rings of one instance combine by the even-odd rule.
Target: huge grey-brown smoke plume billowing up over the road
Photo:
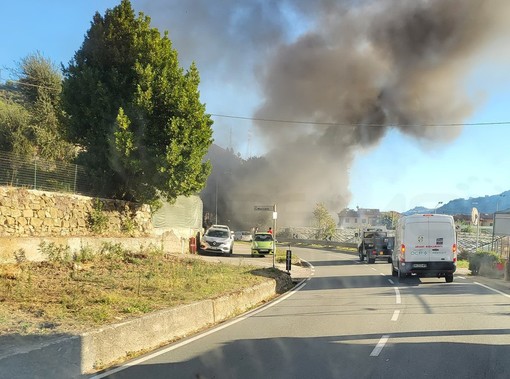
[[[431,125],[472,113],[466,75],[510,10],[506,0],[134,3],[170,31],[203,82],[234,85],[242,96],[255,81],[262,100],[254,118],[299,121],[256,122],[266,163],[245,165],[238,177],[247,180],[229,195],[238,207],[246,194],[277,203],[284,224],[294,225],[317,202],[330,210],[348,204],[356,152],[390,128],[424,144],[456,138],[460,127]]]

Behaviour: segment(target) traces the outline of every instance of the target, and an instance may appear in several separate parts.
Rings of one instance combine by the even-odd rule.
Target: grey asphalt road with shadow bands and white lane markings
[[[295,291],[96,378],[510,377],[510,295],[293,252],[313,265]]]

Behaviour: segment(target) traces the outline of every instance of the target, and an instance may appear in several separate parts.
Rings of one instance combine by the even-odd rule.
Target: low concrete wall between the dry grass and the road
[[[80,378],[153,350],[278,295],[278,280],[216,299],[170,308],[76,336],[55,339],[0,359],[0,379]]]

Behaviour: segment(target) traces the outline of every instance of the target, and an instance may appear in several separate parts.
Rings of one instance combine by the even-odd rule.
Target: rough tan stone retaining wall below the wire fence
[[[0,187],[0,237],[97,235],[91,216],[107,217],[108,236],[143,236],[152,232],[148,205],[126,201]]]

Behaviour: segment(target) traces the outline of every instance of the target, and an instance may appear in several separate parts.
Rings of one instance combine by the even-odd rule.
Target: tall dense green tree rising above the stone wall
[[[154,201],[204,186],[212,120],[199,99],[198,70],[180,68],[167,32],[137,17],[129,0],[95,14],[64,76],[70,135],[98,191]]]

